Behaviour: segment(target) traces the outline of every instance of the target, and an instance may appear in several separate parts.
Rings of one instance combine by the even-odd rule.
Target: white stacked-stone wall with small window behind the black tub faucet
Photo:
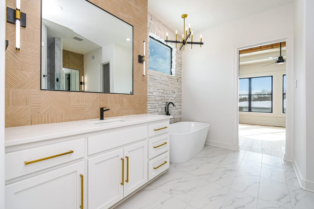
[[[166,33],[168,32],[168,40],[176,40],[175,31],[169,29],[157,18],[148,13],[148,36],[164,43]],[[178,35],[178,40],[182,37]],[[147,112],[153,114],[165,114],[166,102],[173,102],[175,107],[170,105],[169,112],[173,116],[170,123],[181,121],[181,106],[182,106],[182,85],[181,85],[181,66],[182,57],[175,45],[168,44],[172,47],[172,75],[161,73],[149,69],[149,37],[147,45]]]

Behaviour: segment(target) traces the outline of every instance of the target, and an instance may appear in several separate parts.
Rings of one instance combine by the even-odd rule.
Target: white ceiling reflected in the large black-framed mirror
[[[63,10],[56,10],[56,4]],[[85,0],[42,0],[42,18],[68,28],[69,33],[72,30],[72,37],[78,34],[99,46],[114,42],[131,49],[133,47],[131,25]],[[131,41],[126,41],[126,38]]]

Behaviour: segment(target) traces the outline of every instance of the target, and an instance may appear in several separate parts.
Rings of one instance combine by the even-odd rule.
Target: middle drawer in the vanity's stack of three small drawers
[[[169,133],[148,140],[148,158],[169,150]]]

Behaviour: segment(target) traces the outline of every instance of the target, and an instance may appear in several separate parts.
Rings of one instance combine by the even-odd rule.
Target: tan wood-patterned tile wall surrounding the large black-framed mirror
[[[15,0],[7,0],[15,8]],[[15,51],[15,25],[6,24],[5,125],[27,126],[99,118],[99,108],[108,107],[106,117],[147,113],[147,77],[138,55],[147,42],[147,0],[91,0],[133,25],[134,95],[40,90],[40,0],[21,1],[27,26],[21,28],[20,51]],[[147,73],[145,73],[147,75]]]

